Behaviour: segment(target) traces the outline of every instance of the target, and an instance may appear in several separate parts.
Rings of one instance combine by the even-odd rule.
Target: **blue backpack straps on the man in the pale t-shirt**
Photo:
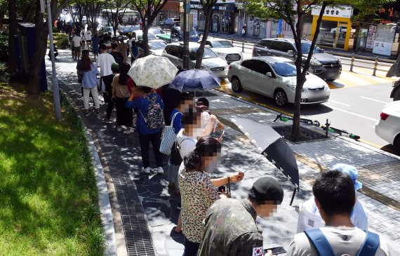
[[[321,229],[309,229],[304,231],[309,241],[314,245],[319,256],[335,256],[333,249],[322,233]],[[357,256],[373,256],[378,250],[380,241],[378,234],[366,231],[366,240],[359,250]]]

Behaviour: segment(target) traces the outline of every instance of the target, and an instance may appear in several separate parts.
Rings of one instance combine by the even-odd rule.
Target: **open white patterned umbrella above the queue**
[[[171,60],[163,56],[149,55],[133,62],[128,75],[136,86],[147,86],[158,89],[175,78],[178,69]]]

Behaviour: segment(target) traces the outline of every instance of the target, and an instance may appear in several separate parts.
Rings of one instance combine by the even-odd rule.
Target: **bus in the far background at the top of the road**
[[[110,27],[112,23],[109,18],[115,17],[117,9],[103,9],[101,11],[102,26]],[[133,11],[128,8],[118,10],[119,25],[139,27],[140,15],[138,11]]]

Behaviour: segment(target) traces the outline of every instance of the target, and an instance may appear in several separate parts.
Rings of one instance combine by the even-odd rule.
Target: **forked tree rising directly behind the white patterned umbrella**
[[[145,55],[150,54],[149,50],[149,28],[152,27],[154,20],[159,12],[164,8],[168,0],[130,0],[131,4],[135,6],[142,19],[143,30],[143,47]],[[142,13],[143,11],[143,13]]]

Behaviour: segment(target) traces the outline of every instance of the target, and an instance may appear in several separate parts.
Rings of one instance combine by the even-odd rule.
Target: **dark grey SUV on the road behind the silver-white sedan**
[[[302,40],[303,60],[307,58],[311,48],[311,41]],[[253,48],[253,57],[256,56],[277,56],[295,60],[297,50],[294,39],[261,39]],[[309,72],[321,77],[326,81],[333,81],[340,78],[342,73],[342,63],[340,58],[328,53],[316,46],[309,67]]]

